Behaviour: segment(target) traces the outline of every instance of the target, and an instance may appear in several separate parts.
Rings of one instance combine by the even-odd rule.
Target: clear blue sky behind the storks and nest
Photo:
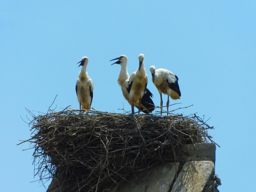
[[[256,150],[256,1],[0,1],[0,82],[2,191],[44,192],[34,178],[33,150],[25,110],[78,109],[76,63],[89,57],[94,81],[92,107],[130,110],[117,84],[128,56],[128,71],[165,68],[179,77],[179,112],[211,119],[220,191],[254,190]],[[148,88],[159,105],[157,89]],[[163,97],[166,102],[166,96]],[[171,102],[174,103],[172,100]],[[36,114],[36,112],[35,112]],[[31,181],[36,181],[30,183]],[[49,183],[46,183],[46,187]]]

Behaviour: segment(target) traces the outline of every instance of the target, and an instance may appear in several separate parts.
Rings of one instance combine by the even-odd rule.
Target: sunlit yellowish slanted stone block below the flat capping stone
[[[183,165],[171,192],[202,192],[213,174],[212,161],[188,161]]]

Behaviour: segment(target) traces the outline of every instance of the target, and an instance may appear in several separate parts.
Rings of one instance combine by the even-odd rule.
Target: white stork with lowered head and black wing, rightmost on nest
[[[162,115],[162,107],[163,107],[163,99],[162,99],[162,93],[168,95],[167,97],[167,113],[168,113],[168,107],[169,107],[169,96],[171,96],[172,99],[180,99],[181,93],[180,93],[180,87],[178,84],[178,77],[173,74],[173,72],[167,70],[167,69],[155,69],[155,66],[150,67],[150,72],[152,74],[152,81],[157,87],[157,90],[160,94],[161,99],[161,115]]]

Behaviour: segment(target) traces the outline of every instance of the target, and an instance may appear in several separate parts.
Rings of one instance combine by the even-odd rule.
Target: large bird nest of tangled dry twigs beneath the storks
[[[35,175],[59,179],[61,191],[102,191],[106,183],[175,161],[184,144],[213,142],[195,114],[126,115],[63,110],[33,116]],[[22,143],[23,143],[22,142]]]

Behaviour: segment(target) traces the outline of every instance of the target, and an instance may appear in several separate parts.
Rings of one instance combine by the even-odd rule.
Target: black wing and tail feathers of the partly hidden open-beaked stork
[[[153,94],[146,88],[145,92],[144,92],[144,95],[141,99],[141,110],[142,110],[142,112],[148,114],[148,113],[151,113],[151,112],[154,111],[155,104],[152,100],[152,97],[153,97]]]

